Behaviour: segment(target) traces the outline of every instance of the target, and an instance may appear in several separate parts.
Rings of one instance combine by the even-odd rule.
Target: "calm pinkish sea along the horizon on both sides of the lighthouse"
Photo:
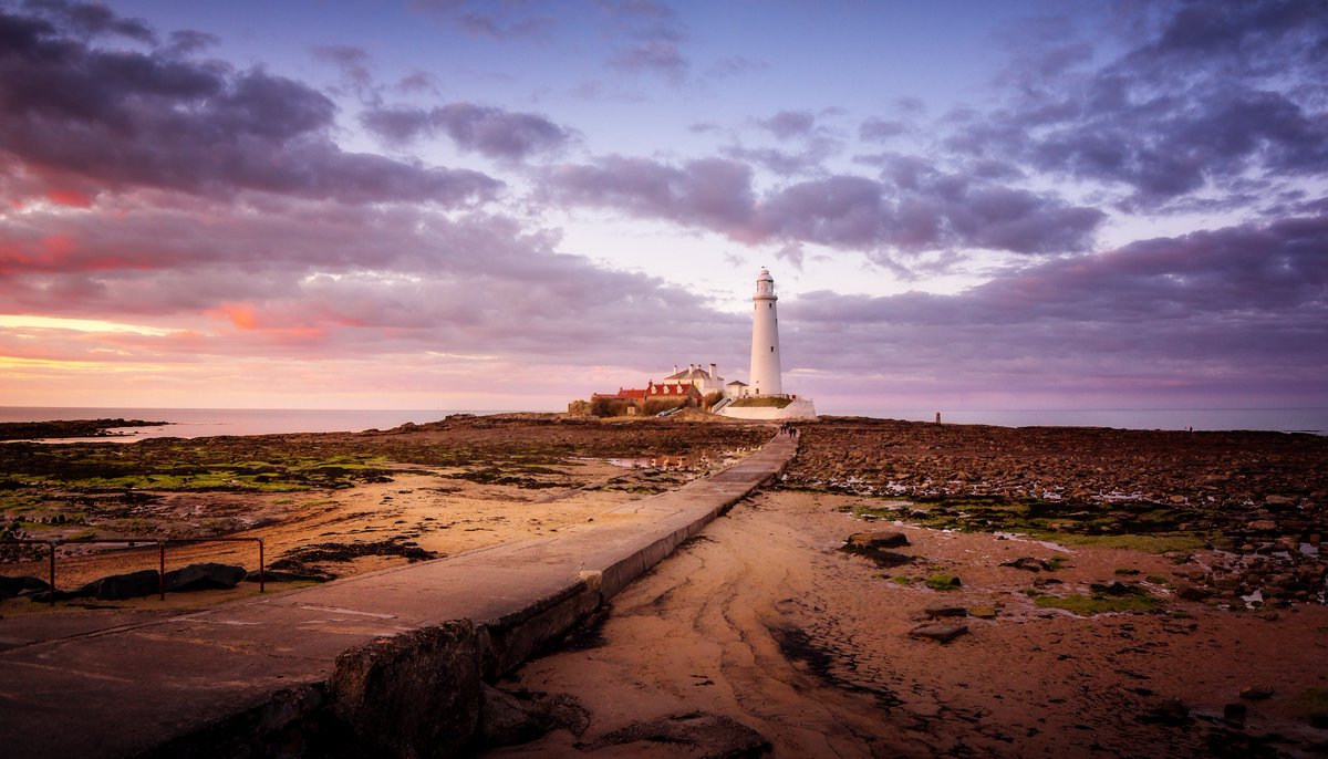
[[[120,409],[0,406],[0,422],[54,419],[143,419],[167,422],[117,430],[124,437],[88,438],[131,442],[143,438],[202,438],[282,433],[359,433],[389,430],[406,422],[436,422],[450,414],[497,414],[503,410],[381,409]],[[818,409],[822,414],[934,422],[936,410]],[[1268,430],[1328,434],[1328,409],[1021,409],[940,410],[942,422],[1003,427],[1070,426],[1122,430]],[[65,439],[64,442],[69,442]]]

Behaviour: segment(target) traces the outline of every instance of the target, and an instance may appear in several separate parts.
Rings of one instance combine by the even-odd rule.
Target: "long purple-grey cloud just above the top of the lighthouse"
[[[1105,214],[1053,195],[943,174],[918,162],[900,180],[831,175],[757,198],[736,161],[681,167],[614,157],[550,176],[556,199],[709,228],[740,242],[806,242],[875,251],[952,245],[1017,253],[1085,251]]]

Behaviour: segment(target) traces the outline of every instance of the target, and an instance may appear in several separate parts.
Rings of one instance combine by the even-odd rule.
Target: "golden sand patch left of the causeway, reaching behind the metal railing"
[[[530,537],[556,533],[558,529],[595,519],[627,500],[645,498],[633,492],[636,480],[647,470],[633,468],[631,462],[612,463],[584,459],[567,467],[575,480],[574,488],[522,488],[513,486],[477,484],[465,479],[436,472],[394,472],[392,482],[360,484],[348,490],[303,491],[295,494],[246,495],[231,494],[162,494],[162,511],[171,512],[181,524],[202,518],[215,519],[218,514],[243,514],[243,519],[260,524],[254,529],[228,532],[235,537],[263,537],[264,559],[268,565],[287,552],[313,544],[377,543],[394,540],[410,543],[438,556],[450,556]],[[683,480],[695,474],[675,474]],[[625,479],[624,479],[625,478]],[[657,484],[661,478],[649,478]],[[618,480],[610,483],[610,480]],[[109,575],[157,569],[159,556],[155,545],[149,548],[113,548],[106,545],[66,547],[78,555],[61,555],[56,565],[56,581],[61,589],[70,589]],[[199,543],[170,545],[166,569],[193,563],[216,561],[248,569],[258,568],[258,547],[252,543]],[[406,563],[402,556],[361,556],[351,561],[319,561],[309,565],[339,577],[371,572]],[[5,575],[31,575],[46,579],[45,560],[13,563],[4,567]],[[287,585],[268,584],[268,592],[280,592]],[[234,590],[207,590],[167,594],[165,605],[191,608],[216,604],[258,592],[244,583]],[[126,601],[98,602],[80,600],[57,604],[57,609],[76,606],[96,608],[161,608],[155,596]],[[0,614],[45,613],[44,604],[24,598],[11,598],[0,604]]]

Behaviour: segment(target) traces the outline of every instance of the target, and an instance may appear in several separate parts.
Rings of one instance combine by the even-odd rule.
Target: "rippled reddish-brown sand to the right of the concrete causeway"
[[[1086,592],[1117,569],[1173,577],[1155,555],[1073,549],[869,524],[846,496],[765,492],[624,590],[598,637],[527,663],[510,689],[571,694],[591,713],[566,730],[493,756],[704,756],[696,744],[639,740],[587,754],[612,731],[669,715],[725,715],[776,756],[1263,756],[1323,755],[1328,731],[1295,706],[1328,685],[1328,608],[1235,613],[1167,598],[1158,612],[1076,617],[1037,608],[1036,577],[1000,567],[1068,556],[1048,592]],[[882,569],[838,547],[861,529],[898,528],[916,557]],[[1202,560],[1202,557],[1199,557]],[[900,585],[887,575],[959,575],[961,589]],[[1154,589],[1166,594],[1162,588]],[[938,606],[995,606],[965,617],[950,644],[910,636]],[[1242,701],[1247,686],[1271,698]],[[1179,699],[1185,713],[1158,707]],[[1243,703],[1243,726],[1223,707]],[[582,744],[582,748],[578,747]]]

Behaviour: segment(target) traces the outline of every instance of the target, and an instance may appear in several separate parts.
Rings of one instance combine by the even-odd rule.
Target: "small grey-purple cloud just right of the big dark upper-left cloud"
[[[408,143],[442,133],[458,147],[507,161],[562,147],[568,130],[533,113],[514,113],[466,102],[434,109],[381,107],[360,117],[365,129],[393,143]]]

